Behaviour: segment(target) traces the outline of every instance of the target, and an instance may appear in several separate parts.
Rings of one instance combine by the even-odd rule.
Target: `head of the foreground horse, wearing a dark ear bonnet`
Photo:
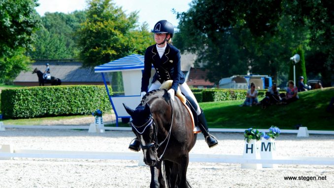
[[[154,124],[153,116],[149,105],[138,106],[135,110],[130,109],[125,104],[124,108],[132,117],[132,130],[137,136],[140,147],[144,152],[144,162],[149,166],[154,166],[158,160],[157,156],[157,127]]]

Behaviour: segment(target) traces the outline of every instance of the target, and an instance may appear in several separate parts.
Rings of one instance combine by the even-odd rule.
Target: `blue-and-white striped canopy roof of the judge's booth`
[[[105,63],[94,68],[95,73],[107,73],[117,71],[134,71],[144,69],[144,56],[132,54],[120,59]]]

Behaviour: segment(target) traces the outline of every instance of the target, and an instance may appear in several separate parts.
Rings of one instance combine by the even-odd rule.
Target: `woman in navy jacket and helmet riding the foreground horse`
[[[209,134],[204,113],[200,109],[194,94],[185,82],[185,75],[181,71],[180,51],[169,44],[174,34],[173,25],[167,20],[161,20],[155,24],[152,33],[154,33],[156,44],[149,46],[145,52],[140,97],[142,98],[147,91],[159,89],[163,82],[169,79],[173,80],[171,88],[168,90],[171,99],[174,100],[174,95],[179,87],[187,98],[191,98],[195,102],[196,106],[194,106],[194,108],[198,115],[199,127],[204,135],[205,141],[209,148],[216,146],[218,142]],[[156,73],[153,76],[152,85],[148,89],[152,64]],[[134,139],[129,149],[139,151],[139,144],[139,141]]]

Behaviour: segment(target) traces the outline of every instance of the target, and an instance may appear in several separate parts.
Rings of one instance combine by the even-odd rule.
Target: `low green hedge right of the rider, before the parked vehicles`
[[[266,90],[258,90],[258,97],[266,96]],[[202,91],[202,102],[242,100],[246,98],[245,89],[205,89]]]

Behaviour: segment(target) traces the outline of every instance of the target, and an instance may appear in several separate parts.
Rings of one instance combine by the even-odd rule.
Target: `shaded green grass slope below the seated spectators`
[[[211,128],[258,128],[275,125],[281,129],[296,129],[297,124],[308,130],[334,130],[334,114],[326,108],[334,97],[334,87],[299,93],[300,99],[289,105],[239,107],[242,100],[200,103]]]

